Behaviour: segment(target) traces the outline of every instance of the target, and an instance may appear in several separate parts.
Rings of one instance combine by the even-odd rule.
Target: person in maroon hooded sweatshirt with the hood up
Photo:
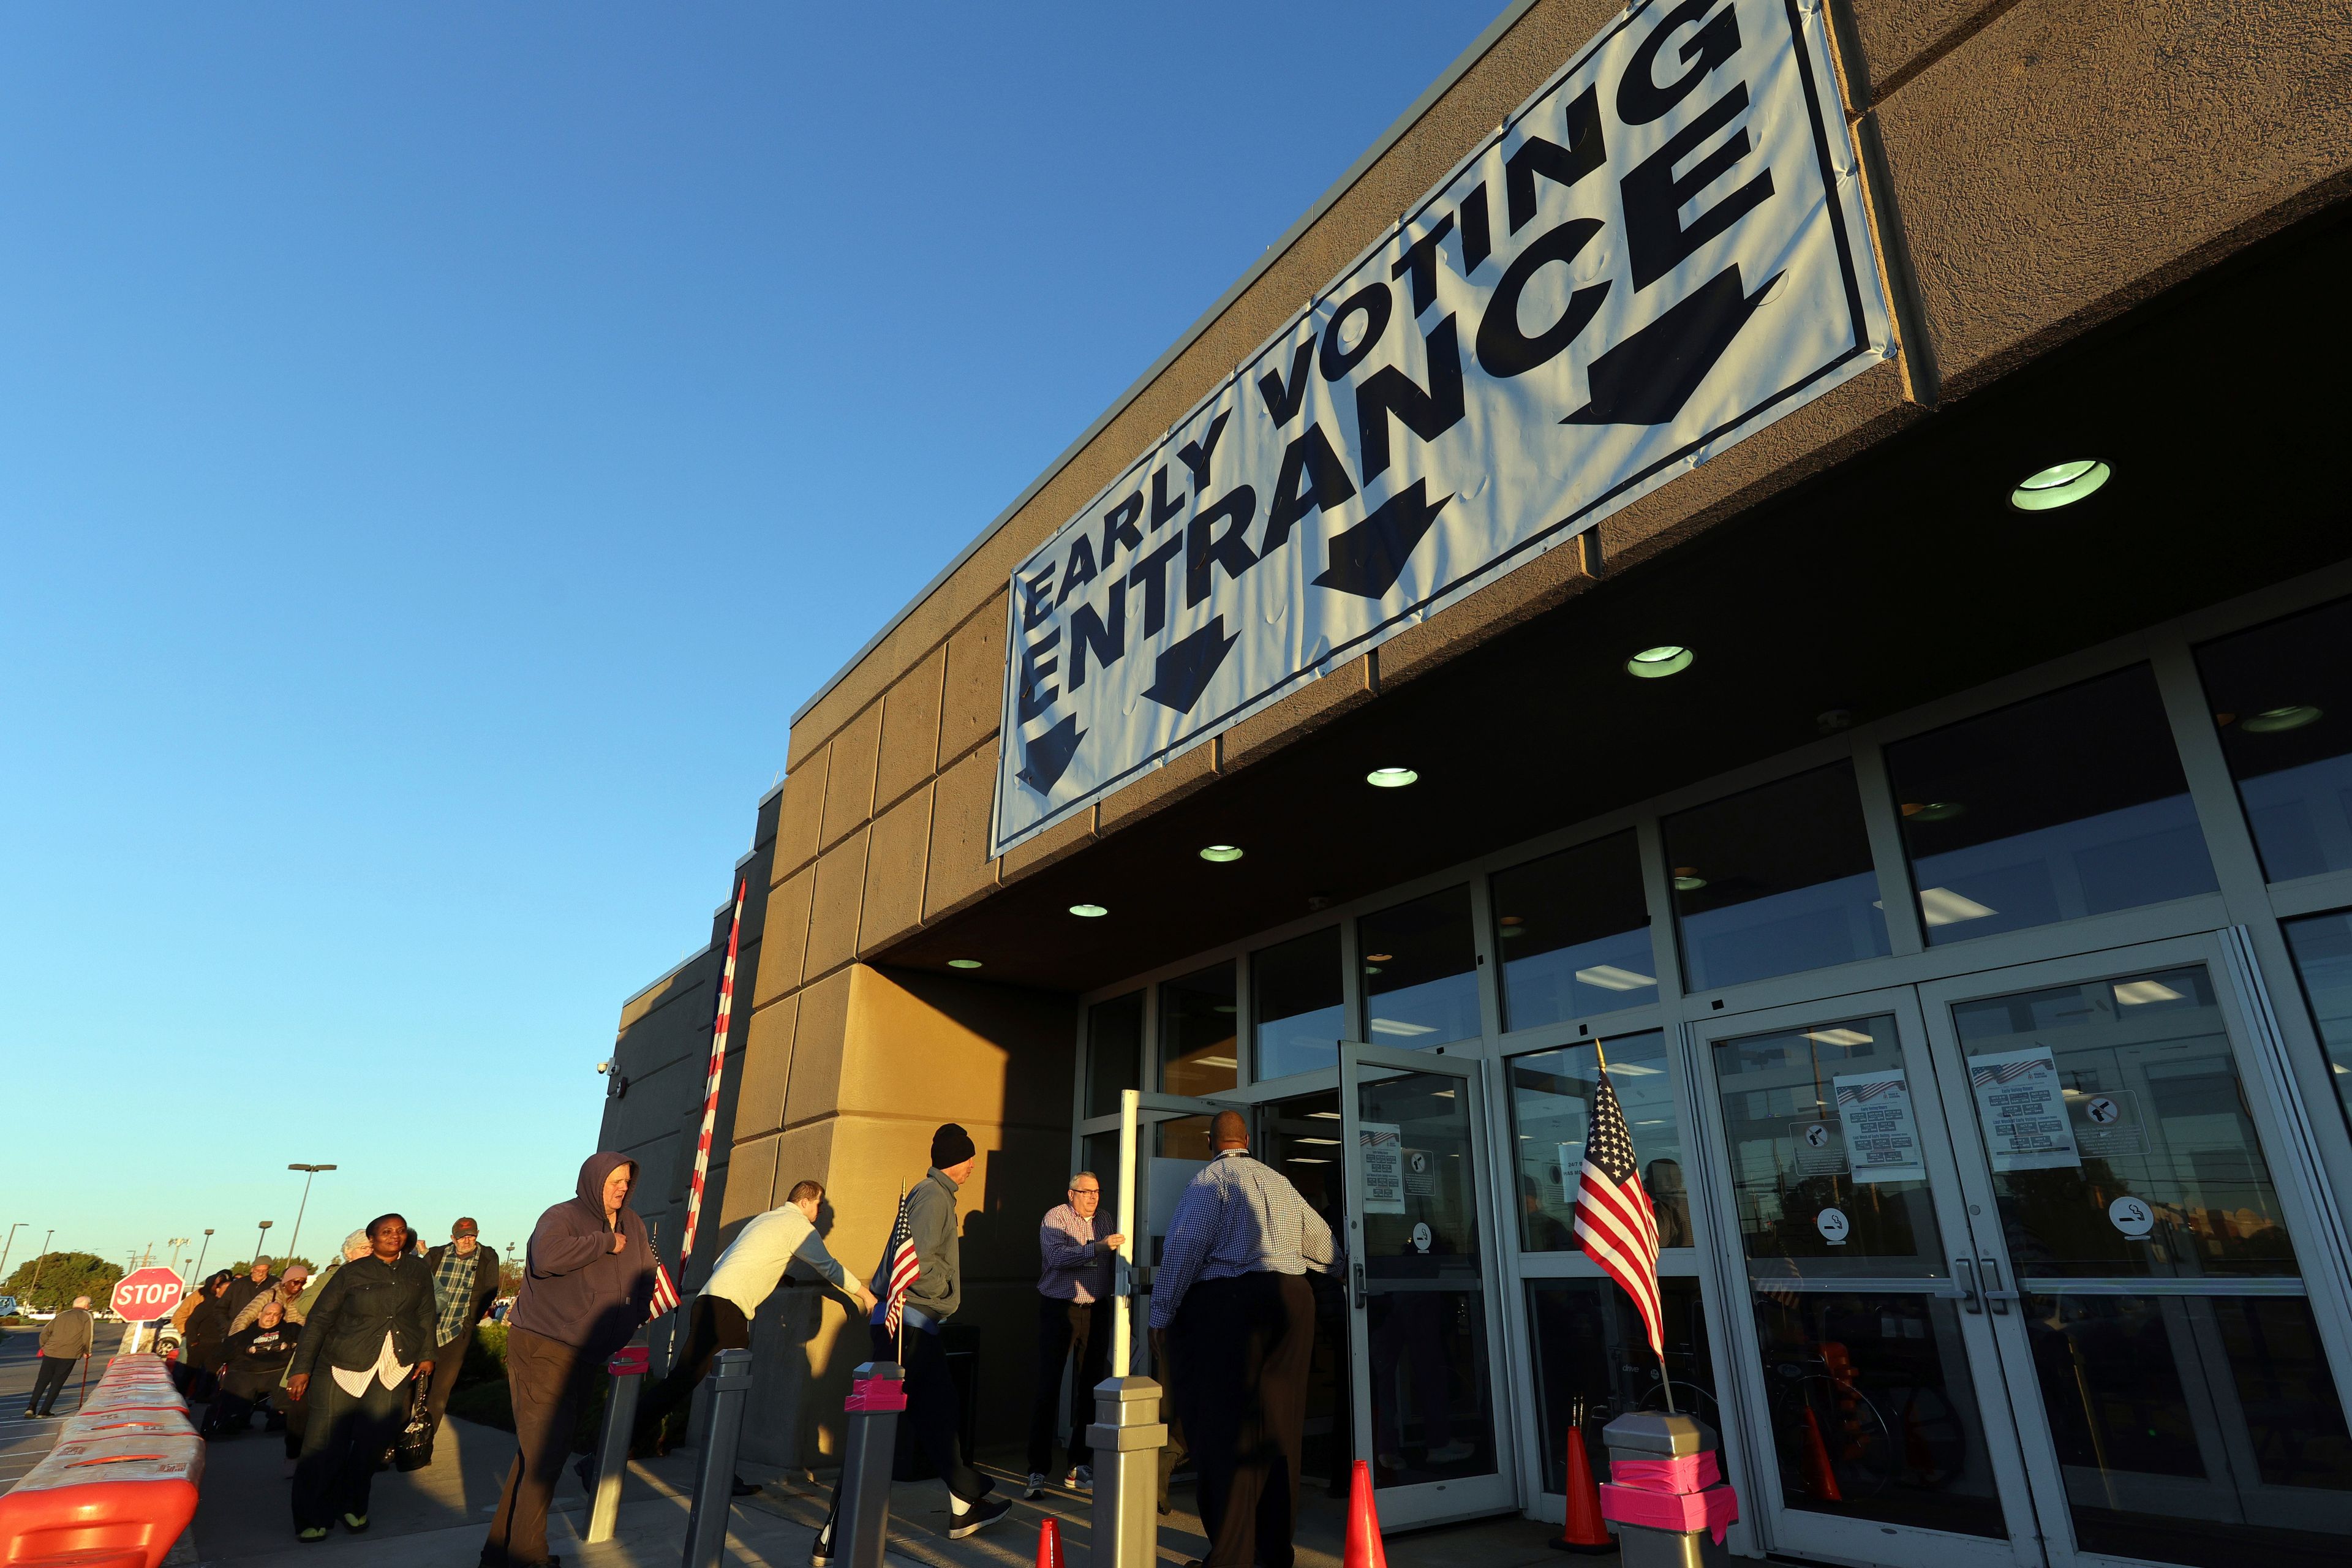
[[[604,1359],[628,1345],[654,1305],[654,1248],[628,1206],[637,1161],[590,1154],[579,1192],[539,1215],[522,1291],[506,1314],[506,1387],[515,1401],[515,1462],[482,1542],[485,1568],[541,1568],[548,1502],[572,1453],[572,1425]]]

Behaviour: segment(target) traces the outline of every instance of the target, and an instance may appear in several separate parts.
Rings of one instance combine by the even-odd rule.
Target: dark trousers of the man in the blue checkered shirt
[[[1298,1274],[1209,1279],[1176,1309],[1169,1361],[1209,1568],[1291,1568],[1312,1356],[1315,1293]]]

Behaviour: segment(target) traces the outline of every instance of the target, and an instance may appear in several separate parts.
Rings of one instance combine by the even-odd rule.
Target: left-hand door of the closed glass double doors
[[[1999,1352],[1910,990],[1696,1027],[1748,1512],[1776,1552],[2037,1568]]]

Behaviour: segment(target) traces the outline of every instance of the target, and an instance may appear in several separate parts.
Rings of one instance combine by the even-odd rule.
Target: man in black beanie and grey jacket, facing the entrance
[[[1004,1497],[990,1497],[995,1483],[964,1460],[957,1439],[964,1410],[955,1399],[955,1382],[948,1380],[948,1352],[938,1342],[938,1328],[964,1300],[964,1265],[957,1246],[955,1194],[971,1180],[971,1168],[981,1164],[971,1147],[971,1133],[957,1124],[946,1124],[931,1133],[931,1168],[922,1173],[915,1190],[906,1194],[906,1225],[915,1244],[920,1272],[906,1291],[903,1335],[889,1326],[889,1253],[882,1244],[882,1267],[875,1269],[875,1309],[868,1319],[875,1361],[898,1361],[898,1340],[906,1338],[906,1422],[915,1432],[931,1469],[948,1481],[948,1537],[962,1540],[974,1530],[1004,1519],[1011,1507]],[[840,1502],[840,1493],[835,1493]],[[816,1535],[811,1563],[833,1561],[833,1519]]]

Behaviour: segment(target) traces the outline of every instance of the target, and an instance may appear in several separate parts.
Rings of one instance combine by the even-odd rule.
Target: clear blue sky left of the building
[[[0,12],[14,1258],[522,1239],[793,708],[1498,9]]]

